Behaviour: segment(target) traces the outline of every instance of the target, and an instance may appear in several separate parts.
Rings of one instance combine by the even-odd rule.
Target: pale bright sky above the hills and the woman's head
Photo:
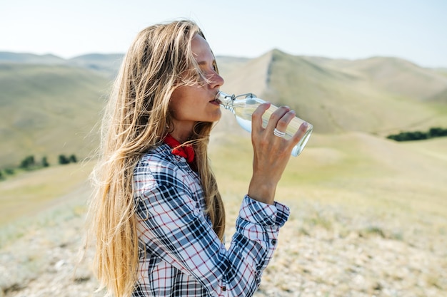
[[[141,29],[191,19],[216,56],[403,58],[447,68],[447,0],[1,0],[0,51],[126,53]]]

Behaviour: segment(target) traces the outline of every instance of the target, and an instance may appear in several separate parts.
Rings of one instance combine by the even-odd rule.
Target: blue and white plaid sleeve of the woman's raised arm
[[[276,249],[289,210],[246,196],[228,250],[175,167],[135,177],[140,240],[168,263],[194,276],[211,296],[252,296]]]

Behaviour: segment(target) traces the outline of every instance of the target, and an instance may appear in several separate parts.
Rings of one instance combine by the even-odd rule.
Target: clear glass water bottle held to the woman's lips
[[[239,99],[239,97],[242,96],[245,96],[245,98]],[[231,110],[231,112],[236,116],[236,121],[238,122],[238,124],[248,132],[251,132],[251,115],[256,110],[256,108],[258,108],[259,105],[266,102],[260,98],[257,98],[256,95],[253,95],[251,93],[236,96],[228,95],[221,91],[216,94],[216,100],[220,101],[220,104],[223,108],[225,108],[226,110]],[[270,108],[268,108],[268,110],[266,110],[266,112],[263,114],[263,127],[266,127],[268,119],[276,109],[278,108],[272,104],[270,105]],[[301,120],[300,118],[293,118],[293,120],[291,120],[291,122],[288,124],[287,130],[284,131],[286,132],[284,138],[290,139],[304,122],[305,121]],[[293,157],[298,156],[303,151],[303,148],[306,145],[309,137],[311,137],[312,130],[313,126],[308,123],[306,134],[301,138],[300,142],[298,142],[298,145],[293,147],[291,154],[293,155]]]

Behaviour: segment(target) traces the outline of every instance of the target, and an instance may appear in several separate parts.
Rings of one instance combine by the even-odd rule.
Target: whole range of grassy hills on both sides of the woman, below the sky
[[[109,93],[121,54],[65,60],[51,55],[0,53],[0,168],[27,155],[86,157],[90,131]],[[447,127],[447,75],[398,58],[358,61],[292,56],[273,50],[258,58],[216,57],[226,93],[255,93],[290,105],[316,133]],[[216,136],[245,135],[223,112]],[[219,138],[219,137],[215,137]]]

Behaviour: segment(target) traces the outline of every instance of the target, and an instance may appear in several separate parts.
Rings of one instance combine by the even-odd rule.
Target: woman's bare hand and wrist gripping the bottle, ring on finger
[[[286,140],[273,134],[276,128],[286,131],[288,123],[295,117],[295,111],[282,106],[272,113],[265,128],[262,127],[262,115],[270,108],[270,103],[258,106],[251,121],[251,142],[253,145],[253,176],[248,187],[248,196],[259,202],[273,204],[276,185],[286,169],[293,147],[298,144],[306,132],[306,123]]]

